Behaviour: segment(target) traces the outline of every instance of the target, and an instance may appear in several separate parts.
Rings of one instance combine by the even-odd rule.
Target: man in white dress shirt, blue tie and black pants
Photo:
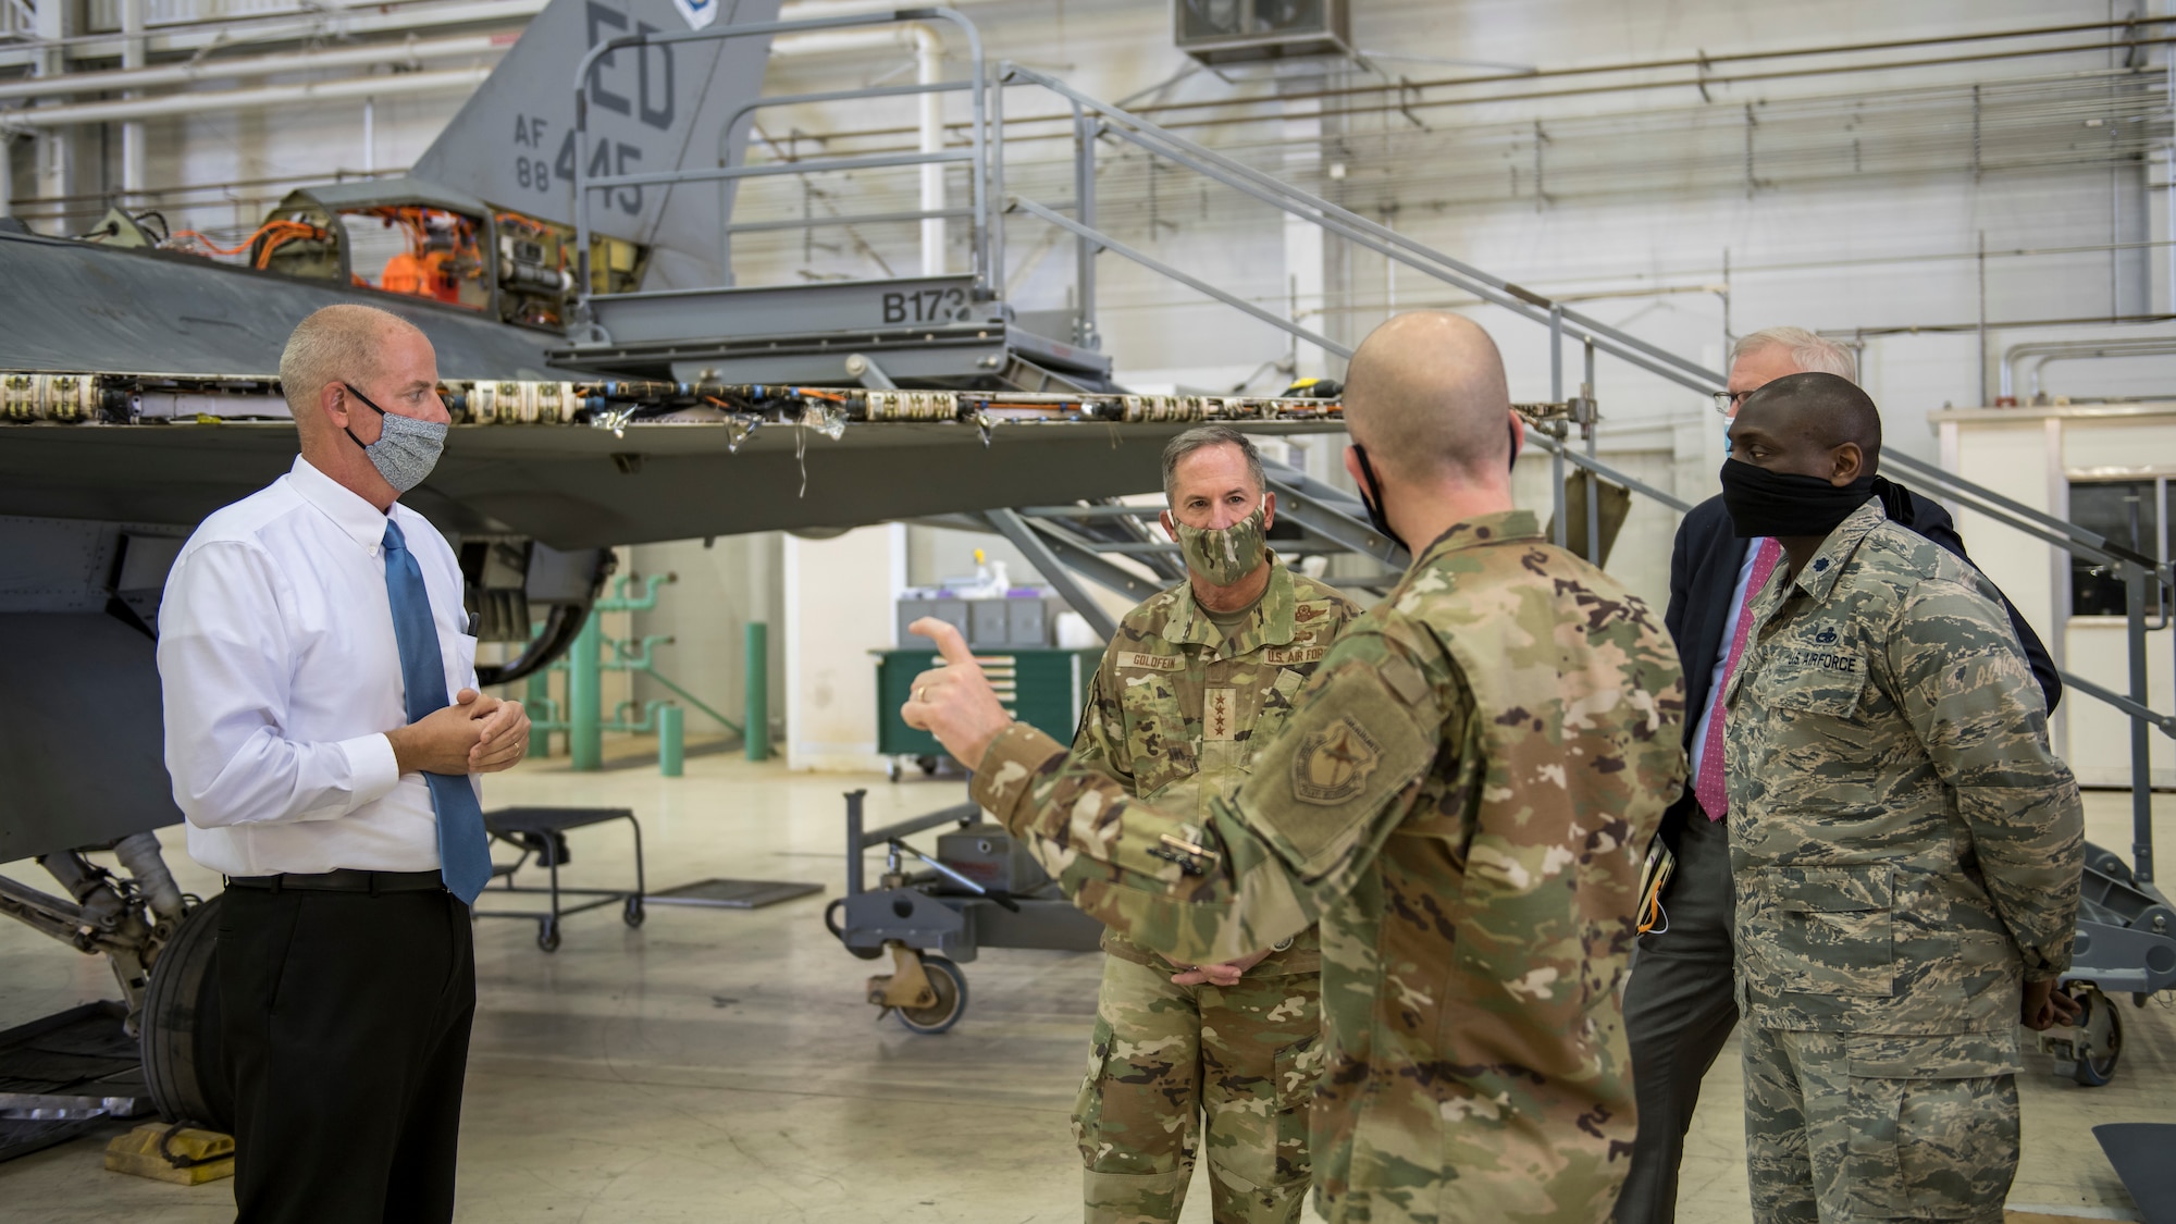
[[[228,876],[222,1037],[255,1222],[453,1217],[490,878],[472,775],[522,758],[477,693],[444,536],[398,497],[446,438],[437,355],[361,305],[281,355],[302,455],[189,536],[159,610],[165,764]]]

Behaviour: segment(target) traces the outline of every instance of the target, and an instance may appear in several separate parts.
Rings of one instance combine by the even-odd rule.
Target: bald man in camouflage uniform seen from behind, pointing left
[[[1473,322],[1351,359],[1356,473],[1417,544],[1330,647],[1238,795],[1164,808],[1014,725],[957,634],[907,723],[1075,904],[1179,960],[1323,932],[1312,1113],[1334,1224],[1599,1222],[1632,1143],[1619,984],[1647,841],[1684,778],[1660,619],[1510,507],[1510,396]]]

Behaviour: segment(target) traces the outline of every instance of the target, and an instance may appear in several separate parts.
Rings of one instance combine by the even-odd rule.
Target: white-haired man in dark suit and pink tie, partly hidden
[[[1730,390],[1717,396],[1726,416],[1739,401],[1784,375],[1819,370],[1856,379],[1852,355],[1797,327],[1756,331],[1730,353]],[[1937,501],[1897,484],[1878,486],[1889,518],[1941,544],[1963,560],[1965,540]],[[1741,619],[1756,577],[1767,575],[1763,540],[1732,534],[1721,497],[1695,505],[1678,527],[1669,558],[1669,636],[1684,664],[1684,747],[1693,756],[1693,786],[1665,815],[1660,836],[1678,856],[1678,869],[1662,891],[1662,921],[1641,937],[1625,991],[1625,1030],[1632,1041],[1632,1082],[1639,1100],[1639,1139],[1632,1172],[1617,1198],[1617,1224],[1669,1224],[1678,1215],[1678,1163],[1684,1133],[1699,1104],[1699,1080],[1708,1074],[1739,1006],[1730,982],[1730,832],[1721,795],[1721,710],[1728,664],[1743,649]],[[1769,549],[1773,553],[1773,549]],[[2011,627],[2032,664],[2032,680],[2048,697],[2048,710],[2063,697],[2048,647],[2004,599]],[[1713,751],[1708,751],[1713,749]]]

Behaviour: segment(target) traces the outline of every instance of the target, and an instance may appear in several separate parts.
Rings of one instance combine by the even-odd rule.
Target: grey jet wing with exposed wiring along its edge
[[[857,527],[1162,488],[1184,423],[851,423],[833,440],[764,425],[461,425],[405,501],[453,534],[594,549]],[[1262,420],[1249,431],[1321,431]],[[1336,425],[1330,425],[1334,429]],[[0,427],[0,514],[194,525],[294,464],[279,420]]]

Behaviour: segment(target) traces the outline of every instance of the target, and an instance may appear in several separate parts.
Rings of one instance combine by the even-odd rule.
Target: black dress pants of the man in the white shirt
[[[237,1224],[453,1220],[477,956],[453,893],[228,889]]]

